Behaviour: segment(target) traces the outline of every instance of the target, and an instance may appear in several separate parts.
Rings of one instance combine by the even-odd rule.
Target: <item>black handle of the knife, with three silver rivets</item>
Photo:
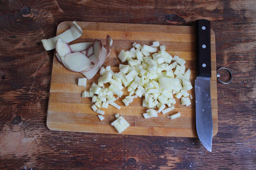
[[[211,24],[196,20],[196,76],[211,77]]]

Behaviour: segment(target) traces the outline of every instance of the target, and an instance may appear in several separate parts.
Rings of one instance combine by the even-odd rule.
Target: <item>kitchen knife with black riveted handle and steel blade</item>
[[[211,152],[211,30],[210,21],[196,20],[196,131],[203,146]]]

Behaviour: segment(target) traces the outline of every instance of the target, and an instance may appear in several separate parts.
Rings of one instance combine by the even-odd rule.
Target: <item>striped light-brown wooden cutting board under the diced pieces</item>
[[[93,42],[94,39],[101,40],[106,44],[106,35],[113,38],[112,53],[106,59],[104,66],[110,65],[114,72],[119,71],[121,63],[117,58],[119,52],[132,48],[133,42],[151,45],[153,41],[160,41],[160,45],[166,46],[166,51],[171,55],[184,58],[186,70],[191,69],[190,81],[193,89],[189,91],[195,98],[194,83],[196,78],[195,62],[195,32],[194,27],[188,26],[165,26],[149,24],[125,24],[125,23],[99,23],[78,22],[83,29],[83,35],[77,40],[69,43]],[[72,22],[66,21],[59,24],[57,35],[72,26]],[[213,113],[213,136],[218,130],[217,114],[217,84],[216,84],[216,51],[215,35],[211,30],[211,105]],[[195,120],[195,100],[186,107],[176,99],[175,109],[166,115],[162,113],[159,117],[144,119],[142,113],[147,108],[142,107],[142,98],[136,98],[129,106],[124,106],[121,101],[129,95],[127,88],[123,89],[124,95],[116,103],[121,106],[118,110],[109,105],[105,111],[105,120],[100,121],[97,113],[93,112],[91,106],[92,98],[82,98],[81,93],[88,91],[93,82],[97,83],[99,73],[93,79],[87,81],[87,87],[78,86],[78,78],[84,77],[81,73],[67,70],[54,55],[52,80],[50,84],[50,96],[47,113],[47,127],[50,130],[90,132],[118,134],[114,127],[110,126],[115,120],[114,114],[119,113],[126,119],[130,126],[122,132],[128,135],[149,136],[180,136],[197,137]],[[106,85],[105,87],[108,87]],[[167,115],[177,112],[181,117],[170,120]]]

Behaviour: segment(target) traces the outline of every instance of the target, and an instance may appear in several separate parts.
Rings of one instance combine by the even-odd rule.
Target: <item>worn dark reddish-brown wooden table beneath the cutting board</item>
[[[1,1],[0,169],[256,169],[256,3],[238,1]],[[54,51],[42,38],[62,21],[193,26],[215,31],[218,133],[197,138],[56,132],[46,127]],[[228,73],[222,72],[224,79]]]

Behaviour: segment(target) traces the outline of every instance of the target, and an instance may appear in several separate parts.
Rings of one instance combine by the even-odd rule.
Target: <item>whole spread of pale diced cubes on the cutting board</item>
[[[144,96],[142,106],[149,108],[147,113],[143,113],[145,119],[157,117],[160,112],[166,114],[174,110],[174,97],[181,99],[182,105],[191,104],[189,97],[193,97],[187,91],[193,87],[189,81],[190,69],[186,71],[184,65],[186,61],[178,56],[172,57],[164,45],[161,45],[160,51],[157,52],[156,47],[159,46],[158,41],[153,42],[151,46],[134,43],[132,49],[121,50],[118,58],[121,62],[127,61],[128,65],[120,64],[119,72],[114,73],[110,66],[100,68],[101,77],[98,84],[93,83],[89,92],[82,93],[82,97],[92,97],[92,103],[95,103],[92,106],[94,112],[103,115],[105,112],[100,108],[108,108],[109,104],[120,109],[114,101],[122,97],[124,87],[127,87],[129,92],[122,100],[125,106],[133,102],[134,98]],[[105,88],[105,83],[110,83],[110,86]],[[99,115],[100,120],[104,119],[102,115]],[[167,117],[175,119],[179,116],[180,112]],[[118,119],[119,115],[116,118]],[[122,118],[121,122],[123,120]],[[114,122],[112,124],[115,125]],[[126,126],[125,123],[119,125]],[[121,133],[121,130],[118,132]]]

